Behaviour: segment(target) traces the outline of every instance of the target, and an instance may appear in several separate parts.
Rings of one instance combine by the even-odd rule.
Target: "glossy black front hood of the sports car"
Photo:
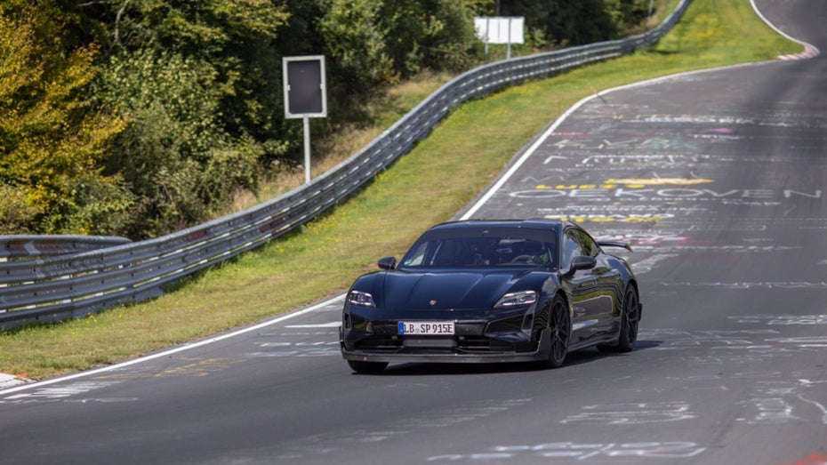
[[[527,274],[510,272],[388,272],[379,283],[391,311],[490,309]]]

